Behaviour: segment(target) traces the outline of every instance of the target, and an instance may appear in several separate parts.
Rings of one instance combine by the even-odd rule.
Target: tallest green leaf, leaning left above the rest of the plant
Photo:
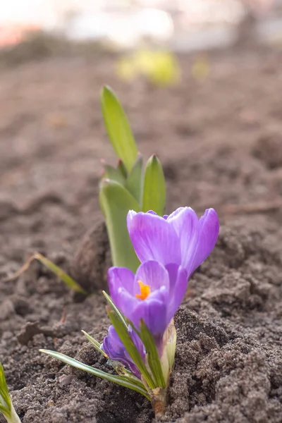
[[[101,104],[104,123],[111,144],[117,157],[123,160],[125,167],[130,171],[137,157],[137,147],[128,118],[111,88],[103,87]]]

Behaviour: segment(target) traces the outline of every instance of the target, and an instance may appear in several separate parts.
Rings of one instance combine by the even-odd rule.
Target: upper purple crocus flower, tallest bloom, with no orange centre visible
[[[186,269],[188,277],[212,252],[219,235],[214,209],[207,209],[200,219],[190,207],[180,207],[164,217],[130,210],[127,224],[140,262],[176,263]]]

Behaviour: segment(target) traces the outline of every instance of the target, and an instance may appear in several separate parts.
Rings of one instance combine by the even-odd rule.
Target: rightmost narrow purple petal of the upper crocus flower
[[[199,222],[199,241],[197,253],[192,264],[192,271],[195,271],[195,269],[207,259],[207,256],[214,249],[214,245],[216,245],[218,236],[219,217],[214,209],[207,209]]]

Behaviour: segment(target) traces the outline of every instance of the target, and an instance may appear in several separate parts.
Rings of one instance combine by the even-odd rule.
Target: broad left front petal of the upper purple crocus
[[[128,233],[140,262],[180,263],[180,244],[173,226],[150,213],[128,212]]]

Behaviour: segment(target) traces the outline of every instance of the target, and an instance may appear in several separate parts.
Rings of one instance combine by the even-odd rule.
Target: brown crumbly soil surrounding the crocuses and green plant
[[[164,422],[282,421],[282,53],[210,53],[204,82],[192,79],[192,59],[180,58],[183,85],[163,90],[124,84],[112,58],[91,54],[2,67],[0,360],[23,423],[154,421],[142,396],[38,352],[106,369],[80,332],[102,340],[102,295],[82,301],[37,263],[4,281],[38,250],[90,290],[103,286],[99,159],[114,159],[104,83],[121,97],[140,150],[164,163],[168,212],[189,204],[221,218],[219,242],[176,315]]]

